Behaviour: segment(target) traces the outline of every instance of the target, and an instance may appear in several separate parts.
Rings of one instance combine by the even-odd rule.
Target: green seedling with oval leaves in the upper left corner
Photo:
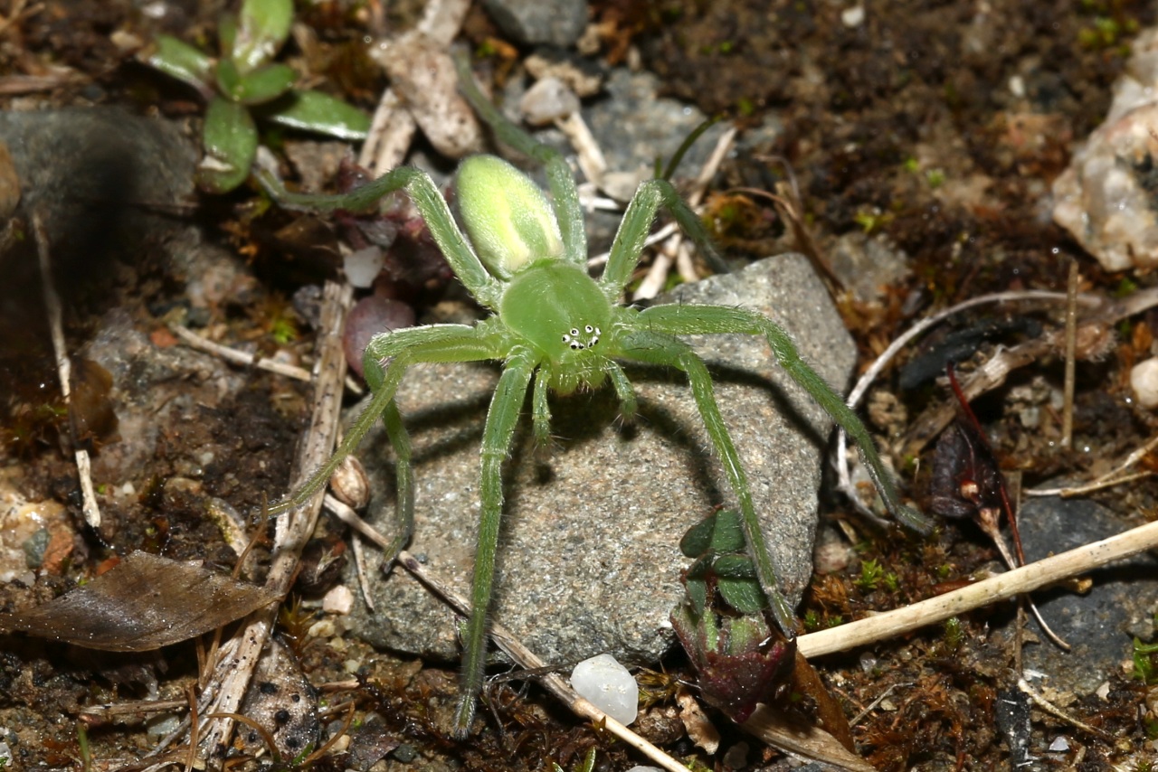
[[[221,56],[159,35],[145,61],[196,88],[208,103],[198,170],[203,188],[225,193],[249,176],[257,154],[255,118],[291,128],[360,140],[369,118],[321,91],[293,88],[298,73],[273,61],[290,35],[293,0],[244,0],[218,24]]]

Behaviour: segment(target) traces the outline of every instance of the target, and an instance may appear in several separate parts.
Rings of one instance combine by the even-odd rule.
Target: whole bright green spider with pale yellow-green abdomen
[[[639,186],[620,225],[607,267],[599,279],[592,278],[586,267],[582,209],[566,161],[486,101],[474,83],[469,63],[460,59],[457,66],[463,95],[496,137],[544,164],[550,199],[521,171],[491,155],[468,157],[455,178],[459,216],[466,233],[455,223],[431,178],[409,167],[389,171],[345,196],[287,193],[269,175],[262,176],[262,183],[284,206],[323,211],[367,211],[387,193],[405,190],[459,280],[492,314],[474,325],[434,324],[374,337],[364,356],[366,380],[374,392],[369,405],[334,457],[291,498],[271,508],[277,514],[309,500],[381,416],[397,456],[396,510],[402,534],[396,545],[401,549],[413,520],[413,472],[410,439],[394,396],[406,368],[419,362],[503,362],[483,431],[482,515],[471,613],[463,635],[461,701],[455,714],[455,731],[462,736],[469,730],[483,682],[486,611],[503,513],[503,462],[532,381],[533,431],[540,442],[545,442],[550,434],[550,391],[567,395],[610,382],[624,418],[630,418],[636,412],[636,395],[617,360],[682,370],[739,503],[760,586],[777,625],[789,638],[797,631],[796,617],[778,589],[739,454],[716,404],[711,375],[679,336],[741,333],[767,338],[777,362],[857,441],[888,509],[918,531],[928,531],[930,524],[901,503],[867,429],[841,396],[800,359],[791,338],[775,323],[743,308],[669,304],[640,310],[620,304],[660,208],[666,208],[702,249],[712,249],[699,219],[670,183],[651,179]]]

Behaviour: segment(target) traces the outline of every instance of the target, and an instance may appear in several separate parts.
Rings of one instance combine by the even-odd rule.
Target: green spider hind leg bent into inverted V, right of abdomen
[[[648,179],[640,183],[636,194],[631,197],[631,203],[628,204],[628,211],[623,213],[623,221],[620,222],[620,229],[615,234],[607,258],[607,267],[603,269],[603,275],[599,280],[600,287],[611,302],[618,302],[623,288],[631,281],[631,274],[639,264],[644,242],[651,233],[652,222],[660,207],[672,213],[683,233],[696,242],[704,257],[718,266],[719,272],[727,272],[727,265],[712,245],[704,223],[680,198],[672,183],[666,179]]]

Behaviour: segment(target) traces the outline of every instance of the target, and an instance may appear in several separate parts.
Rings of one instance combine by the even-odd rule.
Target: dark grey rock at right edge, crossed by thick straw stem
[[[1128,527],[1119,515],[1084,499],[1029,499],[1018,515],[1028,560],[1107,538]],[[1061,588],[1034,593],[1042,617],[1073,650],[1063,652],[1042,639],[1040,646],[1023,650],[1025,667],[1045,672],[1047,686],[1078,696],[1095,691],[1109,674],[1121,672],[1131,638],[1149,640],[1153,634],[1156,566],[1158,559],[1143,553],[1090,572],[1093,587],[1084,595]]]

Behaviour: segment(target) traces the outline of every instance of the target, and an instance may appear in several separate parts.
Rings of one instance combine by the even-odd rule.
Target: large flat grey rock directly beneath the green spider
[[[850,375],[852,343],[799,255],[680,287],[668,301],[756,308],[796,337],[829,382],[842,385]],[[775,365],[763,339],[712,336],[691,344],[712,365],[783,584],[798,602],[812,573],[830,424]],[[525,419],[506,469],[493,613],[548,661],[601,652],[623,662],[660,656],[673,640],[668,615],[689,563],[680,537],[712,507],[733,502],[684,380],[666,370],[628,373],[639,395],[633,426],[617,420],[609,388],[552,398],[554,444],[536,449]],[[418,487],[410,551],[463,594],[479,510],[479,438],[497,374],[496,365],[415,367],[398,395]],[[368,438],[360,455],[375,488],[371,520],[386,525],[394,472],[383,433]],[[352,613],[359,635],[423,656],[459,656],[454,617],[404,572],[384,581],[375,574],[371,587],[376,611],[359,602]]]

